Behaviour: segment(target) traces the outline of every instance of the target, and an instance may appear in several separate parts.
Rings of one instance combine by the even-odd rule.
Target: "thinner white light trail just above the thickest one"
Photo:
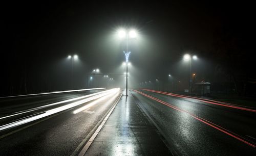
[[[94,96],[94,95],[98,95],[98,94],[101,94],[101,93],[104,93],[104,92],[108,92],[108,91],[109,91],[109,90],[101,91],[101,92],[97,92],[97,93],[93,93],[93,94],[89,94],[89,95],[85,95],[85,96],[80,96],[80,97],[76,97],[76,98],[71,98],[71,99],[67,99],[67,100],[63,100],[63,101],[51,103],[51,104],[49,104],[49,105],[45,105],[45,106],[40,106],[40,107],[36,107],[36,108],[24,110],[23,112],[22,112],[22,111],[19,111],[20,113],[15,112],[15,113],[13,113],[12,115],[0,117],[0,120],[1,120],[1,119],[4,119],[4,118],[9,118],[9,117],[12,117],[12,116],[16,116],[16,115],[20,115],[20,114],[32,112],[32,111],[35,111],[35,110],[38,110],[38,109],[42,109],[42,108],[47,108],[47,107],[50,107],[50,106],[58,105],[58,104],[61,104],[61,103],[70,102],[70,101],[78,100],[78,99],[81,99],[81,98],[87,98],[87,97]]]

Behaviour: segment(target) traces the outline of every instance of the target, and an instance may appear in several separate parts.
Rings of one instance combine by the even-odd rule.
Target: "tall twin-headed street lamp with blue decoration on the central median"
[[[128,63],[129,63],[129,55],[131,54],[131,51],[128,51],[128,38],[136,38],[138,33],[136,30],[124,30],[124,29],[120,29],[118,30],[118,36],[119,38],[124,38],[126,37],[126,52],[123,51],[124,55],[125,55],[125,63],[126,63],[126,95],[128,96]]]

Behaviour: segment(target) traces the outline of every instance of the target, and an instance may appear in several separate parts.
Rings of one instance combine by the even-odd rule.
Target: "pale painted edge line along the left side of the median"
[[[120,93],[119,97],[117,98],[117,100],[115,101],[115,105],[112,107],[112,109],[110,110],[110,112],[108,113],[108,115],[106,115],[106,117],[104,118],[104,120],[101,122],[101,124],[98,126],[98,128],[96,129],[95,133],[92,135],[92,137],[89,139],[89,141],[86,143],[86,145],[84,145],[84,147],[82,148],[82,150],[79,152],[78,156],[82,156],[84,155],[87,150],[89,149],[89,147],[91,146],[91,144],[93,143],[93,140],[96,138],[96,136],[99,134],[101,128],[103,127],[103,125],[105,124],[106,120],[108,120],[108,118],[110,117],[110,115],[112,114],[113,110],[116,108],[117,103],[119,102],[120,98],[122,97],[122,92]]]

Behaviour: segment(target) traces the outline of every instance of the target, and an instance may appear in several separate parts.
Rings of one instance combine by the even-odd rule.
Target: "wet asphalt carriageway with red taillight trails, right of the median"
[[[178,154],[256,155],[256,113],[211,105],[197,99],[138,91],[174,106],[168,107],[156,99],[132,92],[138,105],[154,120]]]

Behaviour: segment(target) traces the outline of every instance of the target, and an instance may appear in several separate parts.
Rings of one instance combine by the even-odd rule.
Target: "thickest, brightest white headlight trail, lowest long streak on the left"
[[[55,114],[55,113],[58,113],[58,112],[61,112],[61,111],[65,111],[67,109],[70,109],[70,108],[76,107],[78,105],[81,105],[82,103],[86,103],[88,101],[91,101],[91,100],[100,98],[102,96],[108,95],[108,94],[112,93],[113,90],[120,90],[120,89],[119,88],[110,89],[110,90],[108,90],[108,92],[104,92],[102,94],[95,95],[95,96],[92,96],[92,97],[89,97],[89,98],[86,98],[86,99],[82,99],[82,100],[70,103],[68,105],[65,105],[65,106],[61,106],[61,107],[58,107],[58,108],[55,108],[55,109],[48,110],[44,114],[39,114],[39,115],[36,115],[36,116],[33,116],[33,117],[17,120],[15,122],[11,122],[11,123],[2,125],[2,126],[0,126],[0,131],[3,131],[5,129],[11,128],[11,127],[15,127],[15,126],[18,126],[18,125],[22,125],[22,124],[25,124],[25,123],[28,123],[28,122],[31,122],[31,121],[34,121],[34,120],[37,120],[37,119],[40,119],[40,118],[44,118],[46,116],[49,116],[49,115],[52,115],[52,114]]]

